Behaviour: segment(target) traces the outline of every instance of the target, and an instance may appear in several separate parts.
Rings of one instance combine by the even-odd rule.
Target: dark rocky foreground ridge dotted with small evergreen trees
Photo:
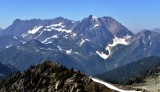
[[[115,92],[55,62],[31,66],[0,83],[1,92]]]

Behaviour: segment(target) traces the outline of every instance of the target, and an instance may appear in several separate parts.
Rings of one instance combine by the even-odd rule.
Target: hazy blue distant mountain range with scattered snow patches
[[[19,70],[55,60],[94,75],[144,57],[160,56],[159,33],[143,30],[133,34],[111,17],[16,19],[0,35],[0,62]]]

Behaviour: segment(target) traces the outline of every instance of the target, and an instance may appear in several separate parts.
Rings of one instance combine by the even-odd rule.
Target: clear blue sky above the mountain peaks
[[[0,0],[0,28],[17,18],[81,20],[90,14],[111,16],[134,32],[160,28],[160,0]]]

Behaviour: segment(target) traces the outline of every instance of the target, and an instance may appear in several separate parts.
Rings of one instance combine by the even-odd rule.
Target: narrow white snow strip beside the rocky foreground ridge
[[[100,80],[98,78],[94,78],[94,77],[90,77],[94,82],[97,82],[97,83],[100,83],[100,84],[103,84],[105,85],[106,87],[110,88],[110,89],[113,89],[115,91],[119,91],[119,92],[142,92],[142,91],[134,91],[134,90],[122,90],[122,89],[119,89],[107,82],[104,82],[103,80]]]

